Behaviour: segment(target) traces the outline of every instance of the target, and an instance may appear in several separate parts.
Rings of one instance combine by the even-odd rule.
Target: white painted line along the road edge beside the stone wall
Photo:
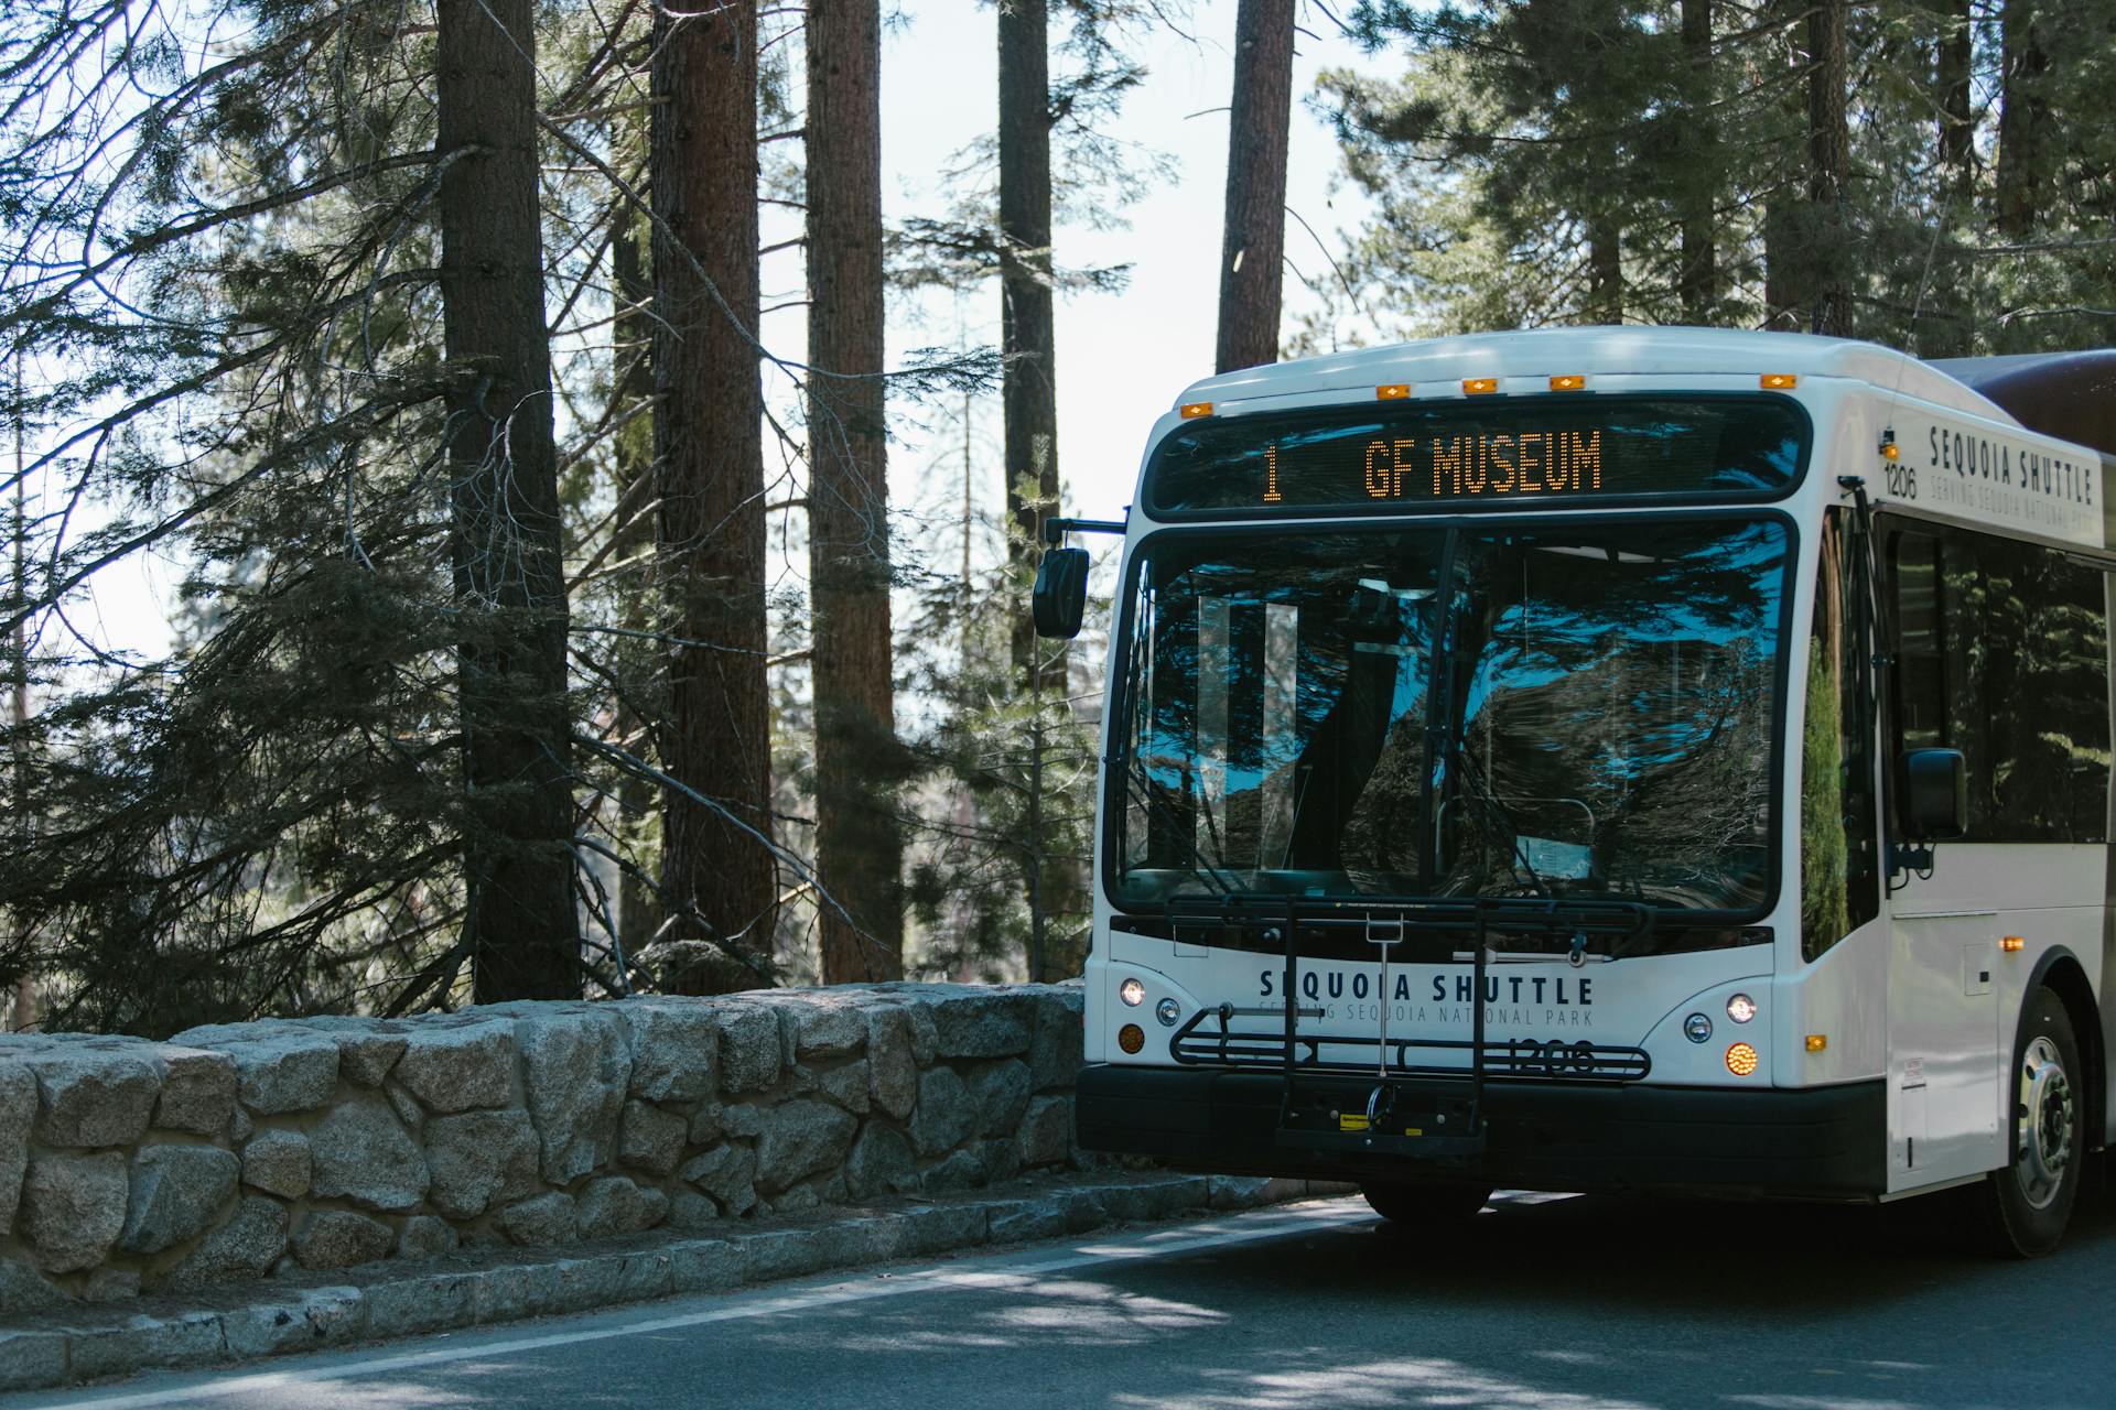
[[[959,1292],[973,1287],[1018,1292],[1026,1285],[1033,1285],[1037,1277],[1050,1273],[1069,1273],[1073,1268],[1086,1268],[1094,1264],[1136,1262],[1145,1258],[1170,1258],[1176,1254],[1221,1249],[1238,1243],[1278,1239],[1284,1235],[1299,1235],[1316,1228],[1344,1228],[1346,1224],[1371,1224],[1371,1222],[1375,1222],[1375,1216],[1369,1213],[1367,1209],[1346,1211],[1342,1203],[1327,1203],[1327,1205],[1318,1203],[1299,1209],[1287,1209],[1280,1213],[1248,1216],[1242,1220],[1225,1220],[1204,1226],[1191,1226],[1181,1232],[1147,1235],[1145,1239],[1132,1245],[1111,1245],[1111,1243],[1083,1245],[1058,1258],[1045,1258],[1033,1264],[1014,1264],[990,1273],[975,1273],[961,1268],[918,1268],[914,1273],[904,1273],[891,1279],[829,1283],[825,1287],[810,1287],[804,1292],[783,1294],[777,1298],[753,1298],[753,1300],[741,1298],[738,1302],[726,1306],[711,1306],[696,1313],[683,1313],[679,1317],[654,1317],[647,1321],[628,1321],[616,1328],[582,1328],[578,1332],[550,1332],[546,1336],[523,1336],[508,1342],[442,1347],[438,1351],[415,1351],[406,1355],[379,1357],[372,1361],[358,1361],[334,1368],[281,1370],[254,1376],[229,1376],[222,1380],[203,1380],[197,1385],[169,1391],[142,1391],[135,1395],[110,1395],[104,1399],[68,1399],[63,1402],[63,1406],[68,1410],[142,1410],[144,1406],[180,1406],[220,1395],[243,1395],[252,1391],[286,1391],[300,1385],[353,1380],[360,1376],[379,1376],[385,1372],[415,1370],[421,1366],[444,1366],[449,1361],[506,1357],[523,1351],[540,1351],[544,1347],[567,1347],[573,1342],[601,1342],[616,1336],[645,1336],[652,1332],[673,1332],[677,1328],[696,1328],[713,1321],[747,1321],[751,1317],[777,1317],[781,1313],[800,1313],[817,1306],[842,1306],[846,1302],[868,1302],[872,1298],[897,1298],[910,1292]],[[595,1315],[595,1313],[576,1313],[576,1315]]]

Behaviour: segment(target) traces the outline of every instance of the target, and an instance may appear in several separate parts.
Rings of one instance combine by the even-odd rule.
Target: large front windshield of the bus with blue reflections
[[[1179,531],[1136,556],[1113,901],[1771,898],[1771,518]]]

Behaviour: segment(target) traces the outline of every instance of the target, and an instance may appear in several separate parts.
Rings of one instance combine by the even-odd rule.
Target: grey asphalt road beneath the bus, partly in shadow
[[[2116,1207],[2042,1262],[1945,1211],[1358,1201],[546,1319],[0,1408],[2110,1410]]]

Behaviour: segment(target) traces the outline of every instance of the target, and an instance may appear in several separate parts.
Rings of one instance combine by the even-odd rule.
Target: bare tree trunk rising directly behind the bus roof
[[[1287,268],[1293,0],[1242,0],[1227,114],[1227,228],[1219,254],[1217,370],[1278,361]]]

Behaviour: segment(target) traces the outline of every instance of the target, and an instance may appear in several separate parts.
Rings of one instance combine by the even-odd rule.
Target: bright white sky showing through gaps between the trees
[[[1147,38],[1147,82],[1130,93],[1111,133],[1176,159],[1170,182],[1157,184],[1126,214],[1130,228],[1060,228],[1060,266],[1130,264],[1124,294],[1077,294],[1058,304],[1058,463],[1064,512],[1117,518],[1132,497],[1147,429],[1187,383],[1212,372],[1219,300],[1219,245],[1227,171],[1227,97],[1232,91],[1234,0],[1196,0],[1183,38],[1160,30]],[[1058,36],[1054,17],[1054,38]],[[1303,6],[1293,74],[1293,142],[1287,203],[1329,243],[1358,226],[1363,203],[1333,190],[1337,146],[1303,106],[1322,68],[1358,66],[1388,72],[1392,61],[1365,59],[1320,13]],[[884,34],[882,55],[882,192],[889,220],[937,216],[948,209],[937,171],[980,133],[997,125],[997,19],[975,0],[906,0]],[[798,233],[791,216],[766,218],[766,245]],[[781,228],[787,226],[787,228]],[[1287,256],[1310,279],[1329,279],[1329,258],[1316,239],[1289,220]],[[766,260],[766,304],[798,298],[800,256]],[[1284,326],[1312,304],[1299,279],[1287,275]],[[999,340],[997,283],[963,304],[973,342]],[[798,357],[806,311],[768,315],[764,340]],[[935,294],[891,304],[889,355],[901,361],[920,347],[959,338],[956,302]],[[768,385],[770,387],[770,385]],[[783,387],[779,391],[785,391]],[[961,433],[942,412],[920,412],[929,425],[904,421],[891,450],[891,501],[914,514],[946,518],[961,503]],[[980,514],[997,507],[999,397],[978,408],[975,435]],[[935,567],[944,567],[946,560]],[[76,626],[118,649],[161,655],[169,647],[167,602],[180,567],[135,556],[91,583]]]

